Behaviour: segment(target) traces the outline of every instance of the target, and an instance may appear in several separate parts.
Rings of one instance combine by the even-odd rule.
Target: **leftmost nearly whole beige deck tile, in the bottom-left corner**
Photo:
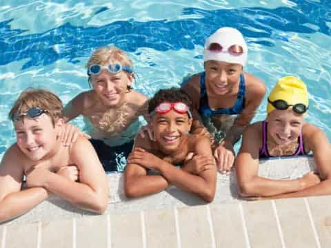
[[[37,247],[38,225],[8,225],[6,248]]]

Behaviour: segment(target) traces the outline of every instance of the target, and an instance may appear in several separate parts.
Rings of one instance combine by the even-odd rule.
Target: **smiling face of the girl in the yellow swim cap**
[[[279,145],[297,142],[303,127],[303,114],[296,114],[292,109],[274,110],[268,114],[268,136]]]

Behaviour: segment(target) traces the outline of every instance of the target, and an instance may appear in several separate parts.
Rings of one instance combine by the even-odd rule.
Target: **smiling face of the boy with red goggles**
[[[155,114],[151,123],[154,138],[165,154],[177,152],[187,141],[191,125],[192,118],[188,118],[188,114],[179,114],[174,110],[166,114]]]

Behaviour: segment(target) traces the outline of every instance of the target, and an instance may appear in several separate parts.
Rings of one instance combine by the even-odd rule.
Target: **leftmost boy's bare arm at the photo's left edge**
[[[19,149],[10,147],[0,165],[0,223],[10,220],[36,207],[48,198],[43,187],[21,191],[23,167],[19,161]]]

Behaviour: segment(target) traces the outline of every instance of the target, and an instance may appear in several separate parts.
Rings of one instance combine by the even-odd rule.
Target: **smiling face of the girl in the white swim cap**
[[[205,85],[208,95],[223,96],[237,90],[243,67],[222,61],[205,62]]]

